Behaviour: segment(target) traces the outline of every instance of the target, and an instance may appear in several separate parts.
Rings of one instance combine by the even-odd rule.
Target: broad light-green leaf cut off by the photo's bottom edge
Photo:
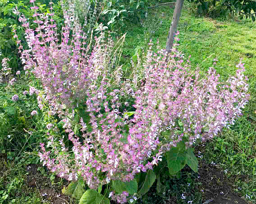
[[[98,194],[96,190],[89,189],[84,192],[79,204],[110,204],[110,201],[102,194]]]

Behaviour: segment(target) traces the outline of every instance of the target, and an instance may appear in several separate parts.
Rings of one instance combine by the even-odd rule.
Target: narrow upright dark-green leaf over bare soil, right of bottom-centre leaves
[[[150,190],[154,181],[156,180],[156,174],[154,174],[153,170],[150,169],[145,174],[141,174],[142,177],[144,176],[145,178],[143,178],[142,184],[140,185],[140,190],[138,191],[138,196],[139,197],[146,194],[147,191]]]

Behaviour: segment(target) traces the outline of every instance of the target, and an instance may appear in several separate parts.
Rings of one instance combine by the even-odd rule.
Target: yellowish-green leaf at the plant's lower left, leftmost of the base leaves
[[[84,181],[78,180],[76,182],[71,182],[67,188],[64,187],[62,193],[79,200],[86,191],[85,187]]]

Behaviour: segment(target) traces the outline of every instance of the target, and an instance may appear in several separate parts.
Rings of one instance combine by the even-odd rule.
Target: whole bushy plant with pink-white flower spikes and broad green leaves
[[[68,15],[59,42],[54,14],[31,9],[38,27],[31,29],[20,17],[30,49],[19,49],[24,69],[40,78],[45,89],[38,93],[40,109],[53,116],[46,125],[46,148],[52,151],[41,144],[39,156],[52,172],[73,181],[63,192],[80,203],[109,203],[107,197],[133,203],[154,183],[153,167],[163,156],[170,174],[185,164],[196,172],[191,146],[217,135],[242,114],[249,98],[242,63],[236,78],[220,82],[213,68],[205,75],[192,70],[175,47],[170,54],[154,53],[150,47],[142,63],[145,78],[140,83],[134,78],[135,90],[121,82],[121,71],[113,70],[119,47],[113,48],[111,40],[106,43],[103,32],[89,53],[79,25],[71,35]],[[134,97],[134,112],[120,111],[123,95]],[[62,129],[66,134],[61,138]]]

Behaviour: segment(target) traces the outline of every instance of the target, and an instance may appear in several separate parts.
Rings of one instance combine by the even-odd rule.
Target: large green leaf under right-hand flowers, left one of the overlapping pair
[[[167,152],[167,164],[170,175],[174,175],[186,165],[186,153],[180,152],[179,148],[173,147]]]

